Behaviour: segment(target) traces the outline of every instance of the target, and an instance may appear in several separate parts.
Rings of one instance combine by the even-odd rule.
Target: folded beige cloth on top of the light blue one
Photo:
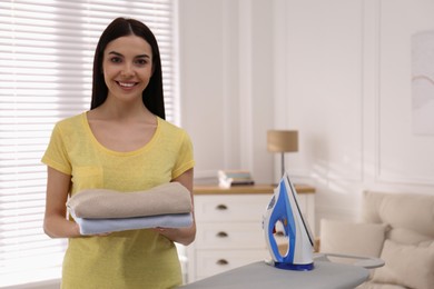
[[[77,217],[90,219],[185,213],[193,210],[190,191],[179,182],[136,192],[82,190],[69,199],[67,207]]]

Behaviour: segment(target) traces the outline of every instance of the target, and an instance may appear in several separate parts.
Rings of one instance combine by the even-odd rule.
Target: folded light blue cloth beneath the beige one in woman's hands
[[[81,235],[96,235],[147,228],[183,228],[193,225],[191,213],[169,213],[135,218],[85,219],[75,217]]]

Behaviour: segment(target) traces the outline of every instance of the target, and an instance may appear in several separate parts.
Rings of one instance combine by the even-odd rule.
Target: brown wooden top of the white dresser
[[[297,193],[315,193],[315,188],[308,185],[294,185]],[[243,193],[273,193],[276,185],[251,185],[234,186],[230,188],[220,188],[217,185],[195,186],[194,195],[243,195]]]

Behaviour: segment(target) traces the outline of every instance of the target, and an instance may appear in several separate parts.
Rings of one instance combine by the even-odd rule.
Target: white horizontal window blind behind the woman
[[[0,287],[60,277],[66,240],[42,231],[40,159],[53,124],[90,108],[95,48],[120,16],[155,32],[177,122],[174,0],[0,1]]]

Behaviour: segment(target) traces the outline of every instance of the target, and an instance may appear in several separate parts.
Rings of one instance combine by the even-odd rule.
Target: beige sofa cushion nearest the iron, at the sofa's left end
[[[379,257],[387,226],[320,220],[320,252]]]

